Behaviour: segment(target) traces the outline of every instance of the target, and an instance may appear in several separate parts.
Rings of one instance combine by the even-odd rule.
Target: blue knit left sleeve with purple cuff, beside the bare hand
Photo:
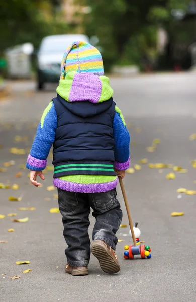
[[[44,110],[37,133],[27,159],[27,168],[42,170],[46,167],[46,159],[55,140],[57,114],[53,102]]]

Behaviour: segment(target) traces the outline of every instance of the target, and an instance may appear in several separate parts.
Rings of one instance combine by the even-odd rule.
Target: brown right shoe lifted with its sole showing
[[[91,247],[92,254],[99,260],[101,269],[108,274],[120,271],[120,264],[115,251],[103,240],[95,240]]]

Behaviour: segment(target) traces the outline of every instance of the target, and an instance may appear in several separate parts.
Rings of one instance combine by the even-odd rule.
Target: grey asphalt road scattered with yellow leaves
[[[176,192],[181,187],[196,189],[196,170],[190,163],[196,158],[196,141],[188,139],[196,133],[195,83],[195,73],[111,79],[114,100],[126,117],[133,142],[131,166],[147,158],[150,163],[174,164],[187,168],[188,172],[176,172],[176,179],[168,180],[165,176],[172,169],[159,171],[142,165],[134,174],[126,174],[124,185],[132,218],[141,229],[140,239],[151,246],[152,258],[124,260],[124,245],[131,244],[131,238],[129,229],[121,228],[118,238],[124,241],[117,245],[121,272],[103,273],[92,256],[89,276],[73,277],[64,272],[66,245],[61,216],[49,212],[57,207],[53,197],[57,192],[46,190],[52,185],[52,171],[45,175],[44,186],[36,189],[29,185],[27,170],[21,169],[22,177],[15,177],[20,171],[18,165],[25,164],[27,154],[9,152],[11,147],[31,146],[42,111],[55,96],[55,86],[47,86],[45,92],[37,93],[34,82],[9,82],[11,93],[7,99],[0,100],[0,143],[3,144],[0,167],[10,160],[15,165],[1,173],[0,182],[17,183],[20,188],[1,190],[0,214],[18,216],[0,219],[0,240],[8,241],[0,243],[0,301],[196,301],[196,200],[195,195]],[[16,142],[16,135],[28,136],[29,141]],[[161,143],[155,152],[149,153],[146,147],[154,138],[159,138]],[[8,201],[9,196],[21,194],[22,201]],[[118,197],[124,211],[123,223],[128,224],[119,188]],[[18,207],[36,207],[36,210],[22,212]],[[173,211],[184,212],[184,216],[171,217]],[[29,217],[29,221],[12,222],[12,218],[24,217]],[[91,235],[93,217],[90,221]],[[15,232],[9,233],[9,228]],[[24,260],[30,260],[30,264],[15,264]],[[32,271],[21,274],[25,269]],[[21,278],[10,280],[14,275]]]

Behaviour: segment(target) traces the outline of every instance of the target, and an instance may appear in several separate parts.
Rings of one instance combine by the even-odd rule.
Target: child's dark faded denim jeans
[[[88,226],[90,207],[96,222],[92,239],[104,240],[114,250],[118,242],[115,236],[122,221],[120,203],[116,189],[104,193],[75,193],[58,189],[58,202],[63,216],[63,235],[68,248],[67,262],[71,266],[88,265],[90,260],[90,238]]]

